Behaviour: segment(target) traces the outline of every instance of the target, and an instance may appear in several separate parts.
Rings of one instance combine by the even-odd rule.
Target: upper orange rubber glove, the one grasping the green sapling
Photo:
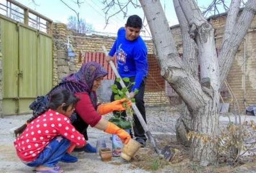
[[[100,113],[100,115],[104,115],[109,112],[113,111],[124,111],[125,108],[122,106],[123,102],[127,102],[127,106],[131,106],[131,101],[127,99],[121,99],[121,100],[115,100],[114,102],[100,104],[97,108],[97,112]]]

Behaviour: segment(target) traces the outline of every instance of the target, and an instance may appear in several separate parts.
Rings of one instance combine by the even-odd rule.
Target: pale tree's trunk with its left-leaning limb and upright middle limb
[[[191,71],[185,68],[184,63],[177,56],[174,39],[160,1],[141,0],[140,2],[152,33],[156,58],[158,58],[162,69],[161,75],[187,105],[192,116],[193,132],[209,138],[216,138],[218,127],[218,65],[214,29],[205,19],[191,20],[193,22],[191,35],[194,35],[197,42],[200,63],[203,64],[201,66],[201,81],[204,82],[201,84],[193,77]],[[187,5],[193,5],[193,3],[184,2],[183,7],[185,8]],[[196,29],[193,30],[193,28],[197,29],[197,35],[195,34]],[[208,55],[207,59],[204,58],[205,53]],[[204,166],[216,162],[216,142],[203,142],[200,138],[193,137],[191,158],[193,161],[200,161]]]

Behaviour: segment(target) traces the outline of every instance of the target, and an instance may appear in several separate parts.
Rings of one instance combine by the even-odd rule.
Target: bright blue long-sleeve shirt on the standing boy
[[[109,56],[117,55],[117,68],[120,76],[135,77],[135,85],[131,89],[139,88],[144,77],[147,76],[147,47],[141,36],[130,41],[125,37],[125,28],[121,27],[117,33]]]

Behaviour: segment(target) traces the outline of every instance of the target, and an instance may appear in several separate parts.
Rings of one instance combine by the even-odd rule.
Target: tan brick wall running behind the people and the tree
[[[216,29],[216,47],[220,49],[221,39],[224,32],[225,15],[220,15],[217,18],[211,18],[210,23],[213,24]],[[238,49],[236,58],[228,74],[228,83],[238,100],[241,110],[244,110],[246,104],[256,103],[256,34],[255,34],[256,19],[254,19],[251,24],[250,31],[246,34],[245,41],[241,44]],[[84,57],[79,54],[84,54],[85,52],[101,52],[101,45],[105,45],[106,49],[110,49],[113,45],[115,37],[107,36],[85,36],[79,35],[75,32],[69,31],[65,24],[55,23],[53,27],[53,58],[54,58],[54,69],[53,69],[53,83],[56,85],[59,79],[67,74],[73,73],[80,68],[81,63],[84,61]],[[174,35],[174,40],[177,45],[177,50],[182,53],[182,43],[181,43],[181,33],[178,26],[172,27],[172,33]],[[76,52],[76,57],[74,60],[67,61],[67,36],[76,35],[81,37],[69,37],[70,43],[73,45],[73,50]],[[85,36],[85,37],[84,37]],[[153,54],[152,41],[146,41],[148,54]],[[244,63],[244,55],[246,62]],[[244,72],[245,65],[245,72]],[[154,73],[151,73],[155,75]],[[152,79],[149,79],[149,83],[152,84]],[[159,79],[161,81],[161,79]],[[153,80],[154,81],[154,80]],[[160,87],[162,87],[162,82],[156,82]],[[145,92],[145,102],[148,106],[158,105],[162,103],[168,103],[168,99],[165,94],[161,91],[156,91],[157,85],[154,90],[152,87],[147,86],[147,92]],[[158,86],[158,87],[159,87]],[[149,89],[148,89],[149,88]],[[245,99],[244,99],[245,98]],[[224,98],[225,102],[232,102],[234,98],[228,94]],[[232,109],[232,106],[231,106]]]

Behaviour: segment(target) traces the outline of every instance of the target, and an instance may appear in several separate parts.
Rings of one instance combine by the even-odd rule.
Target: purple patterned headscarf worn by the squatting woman
[[[64,77],[59,83],[59,86],[53,88],[52,91],[59,90],[60,88],[66,88],[73,93],[86,91],[88,92],[94,107],[96,107],[97,96],[96,92],[92,91],[93,82],[95,79],[105,77],[107,74],[108,71],[104,69],[104,67],[97,62],[90,61],[86,64],[82,64],[77,73],[72,73],[67,77]]]

